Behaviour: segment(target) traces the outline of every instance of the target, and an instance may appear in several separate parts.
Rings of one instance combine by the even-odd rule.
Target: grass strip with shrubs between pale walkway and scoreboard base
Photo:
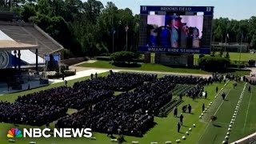
[[[153,64],[153,63],[142,63],[141,66],[139,67],[119,67],[119,66],[112,65],[110,62],[97,61],[94,63],[82,63],[79,66],[97,67],[97,68],[106,68],[106,69],[162,71],[162,72],[187,73],[187,74],[212,74],[205,70],[177,68],[177,67],[163,66],[159,64]],[[238,75],[247,75],[247,74],[250,74],[250,70],[237,70],[230,73],[238,74]]]

